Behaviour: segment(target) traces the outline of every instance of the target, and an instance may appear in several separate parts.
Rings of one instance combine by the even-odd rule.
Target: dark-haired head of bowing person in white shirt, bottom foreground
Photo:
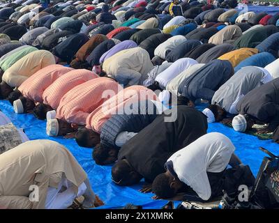
[[[165,174],[160,174],[155,178],[152,191],[160,198],[171,198],[175,195],[174,189],[170,187],[169,177]]]

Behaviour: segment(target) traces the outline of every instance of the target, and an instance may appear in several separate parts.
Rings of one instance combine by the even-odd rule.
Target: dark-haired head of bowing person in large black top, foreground
[[[112,179],[118,185],[134,185],[139,183],[142,176],[125,160],[119,160],[112,167]]]

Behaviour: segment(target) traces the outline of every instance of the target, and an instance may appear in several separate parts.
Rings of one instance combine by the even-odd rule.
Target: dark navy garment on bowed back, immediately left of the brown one
[[[52,52],[55,56],[58,56],[59,59],[70,63],[80,47],[88,40],[89,38],[84,33],[76,33],[68,37],[62,43],[59,43],[59,45],[56,45]]]

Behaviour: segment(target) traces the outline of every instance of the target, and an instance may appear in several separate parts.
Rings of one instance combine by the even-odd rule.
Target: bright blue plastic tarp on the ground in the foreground
[[[198,109],[203,108],[204,106],[198,107]],[[111,167],[95,164],[91,156],[92,150],[81,148],[75,143],[74,139],[48,137],[45,133],[45,121],[36,119],[32,114],[15,114],[8,101],[1,100],[0,109],[13,121],[17,128],[24,128],[29,139],[51,139],[66,146],[88,174],[94,192],[105,202],[105,206],[101,208],[121,208],[127,203],[142,205],[143,208],[161,208],[167,203],[167,201],[153,201],[151,199],[153,194],[140,193],[138,190],[144,183],[133,187],[114,185],[111,180]],[[255,176],[265,155],[259,151],[259,146],[267,148],[275,154],[278,154],[279,151],[279,145],[271,140],[259,140],[257,137],[248,134],[234,132],[232,128],[227,128],[220,123],[210,123],[208,132],[221,132],[227,135],[236,146],[236,155],[239,155],[243,163],[250,165]]]

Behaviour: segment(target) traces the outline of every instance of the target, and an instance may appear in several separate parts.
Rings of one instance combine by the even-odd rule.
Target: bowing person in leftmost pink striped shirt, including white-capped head
[[[33,107],[35,107],[35,102],[43,102],[43,92],[47,89],[50,84],[52,84],[57,78],[73,70],[72,68],[67,68],[58,64],[47,66],[26,79],[18,88],[18,91],[22,93],[22,97],[13,102],[15,113],[27,113]],[[15,98],[14,98],[15,99]],[[32,104],[27,106],[28,103]],[[30,100],[33,102],[30,102]],[[11,101],[10,101],[11,102]]]

